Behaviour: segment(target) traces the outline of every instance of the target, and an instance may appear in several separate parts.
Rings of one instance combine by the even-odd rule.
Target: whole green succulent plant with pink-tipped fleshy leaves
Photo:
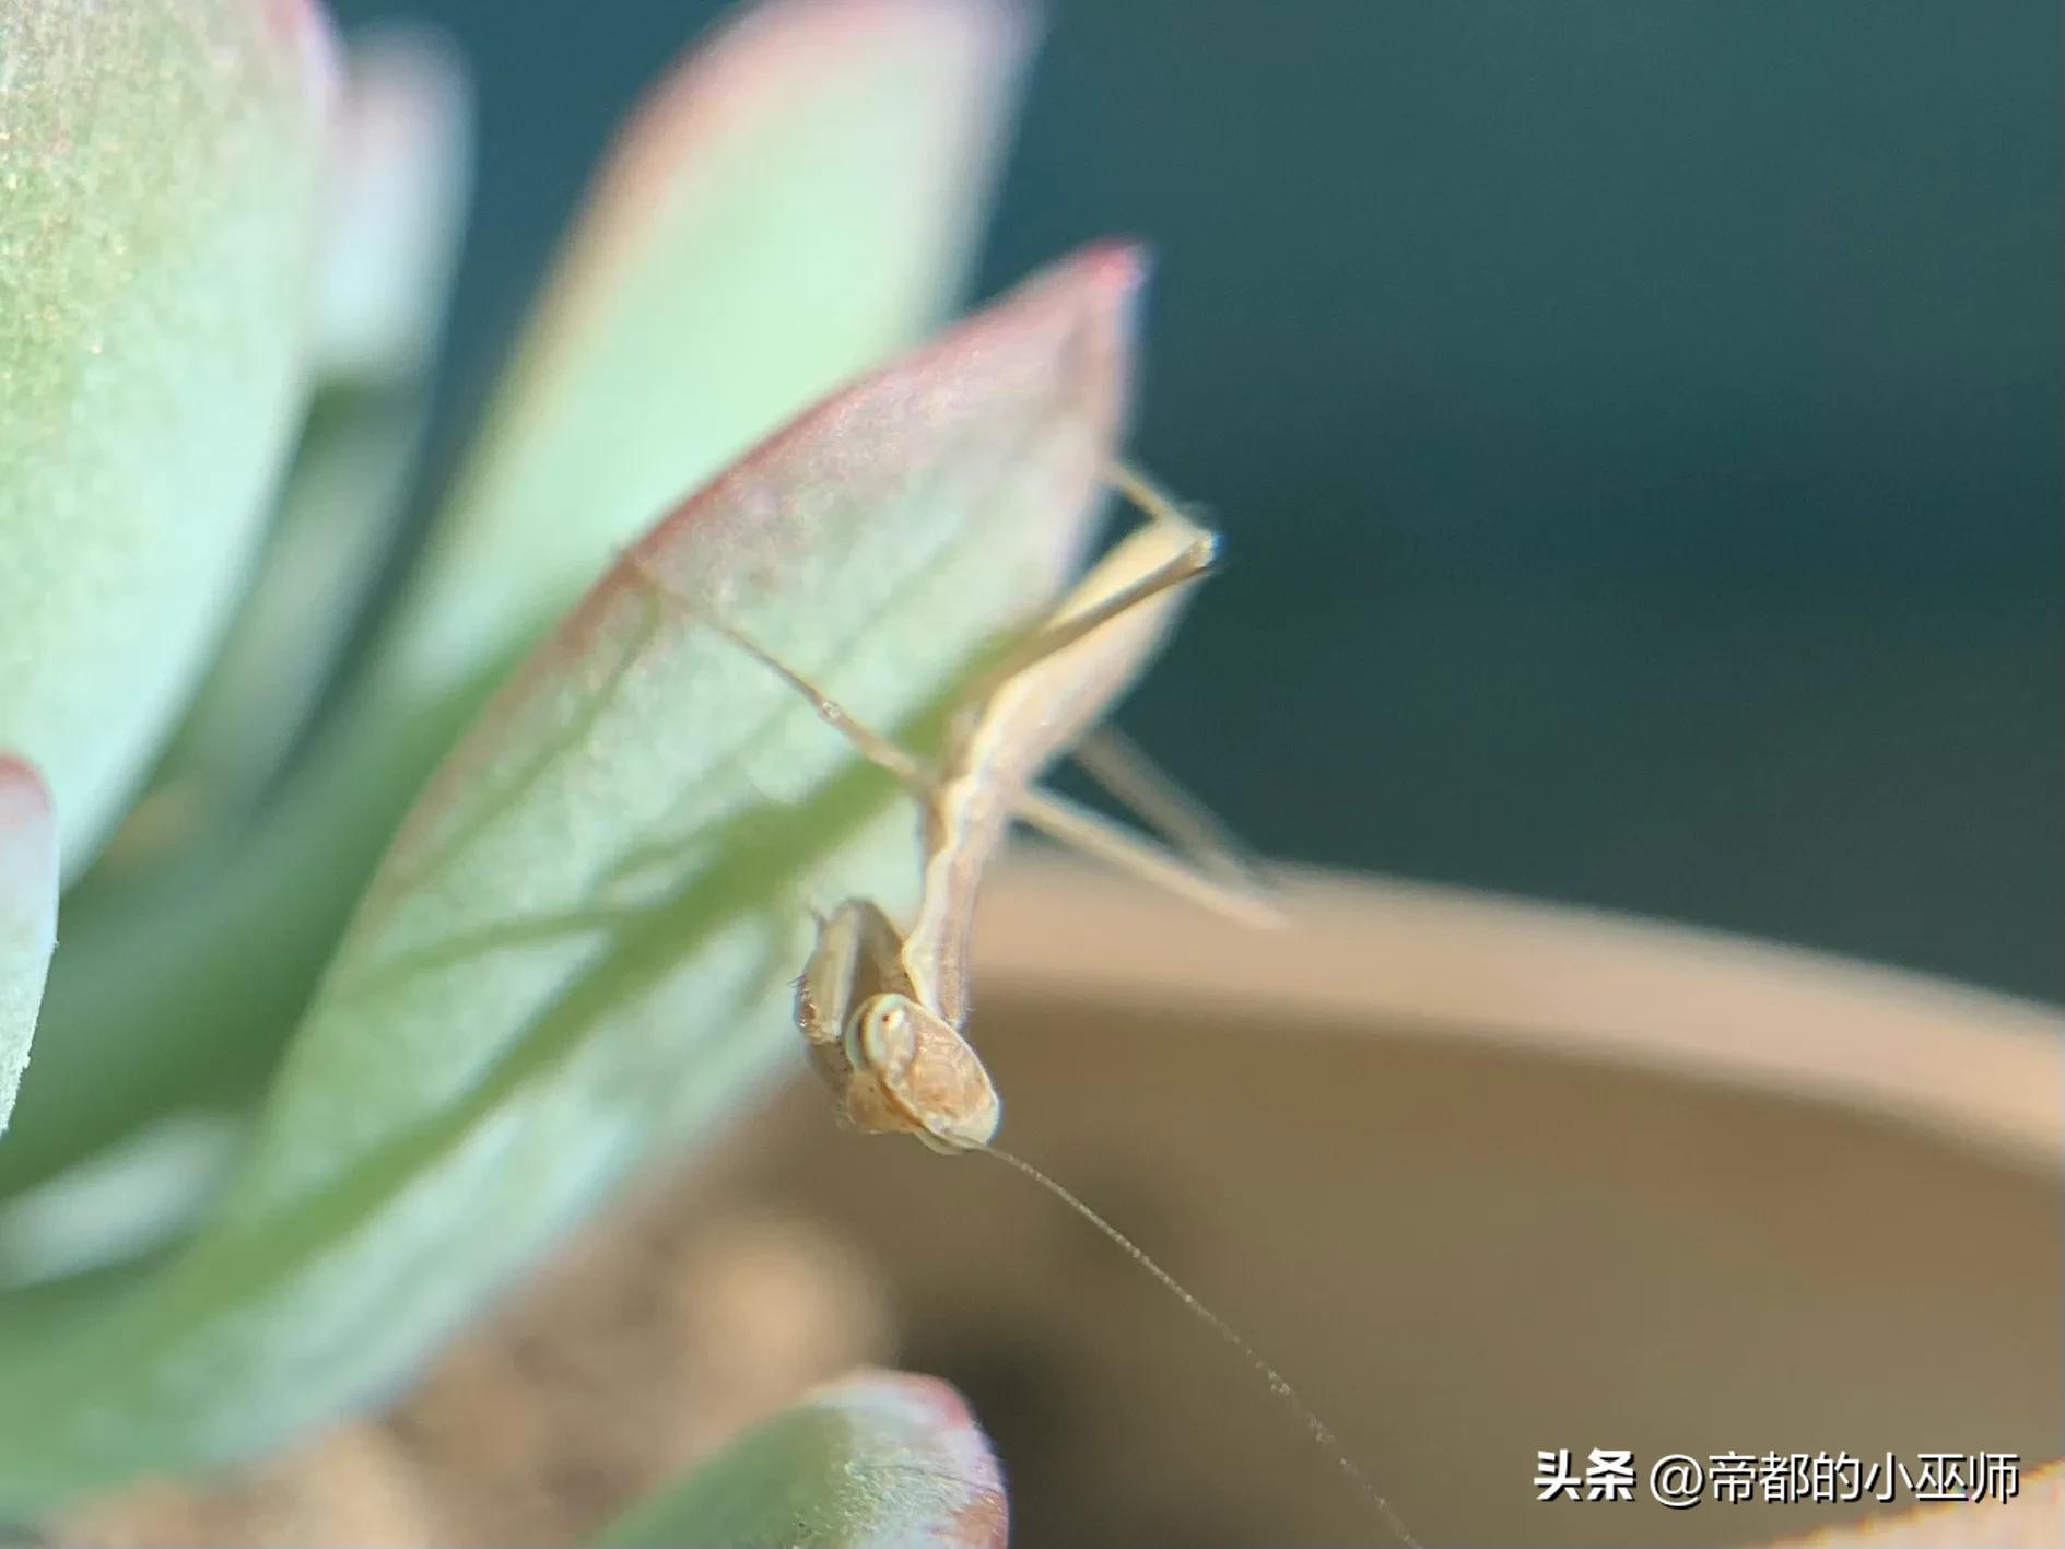
[[[1074,566],[1138,254],[921,345],[1028,43],[1002,0],[704,41],[403,566],[458,64],[0,0],[0,1518],[382,1400],[793,1068],[805,900],[909,898],[911,812],[700,611],[923,739]],[[995,1541],[1002,1493],[876,1373],[611,1541],[766,1522]]]

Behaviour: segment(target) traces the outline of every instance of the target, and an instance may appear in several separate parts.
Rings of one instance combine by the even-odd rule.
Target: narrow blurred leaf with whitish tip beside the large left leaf
[[[436,33],[351,39],[326,188],[318,384],[256,576],[93,884],[242,828],[279,774],[407,510],[458,250],[471,99]]]

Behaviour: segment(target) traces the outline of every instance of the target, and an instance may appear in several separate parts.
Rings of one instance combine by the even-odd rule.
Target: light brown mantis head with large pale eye
[[[979,1150],[1004,1115],[981,1055],[911,995],[863,1000],[847,1022],[847,1111],[863,1130],[915,1134],[933,1150]]]

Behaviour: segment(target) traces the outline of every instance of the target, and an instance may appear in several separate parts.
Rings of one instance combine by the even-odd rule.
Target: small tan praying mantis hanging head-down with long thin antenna
[[[1202,810],[1125,754],[1123,744],[1082,741],[1161,646],[1185,593],[1212,570],[1218,551],[1216,537],[1142,475],[1115,465],[1109,477],[1148,523],[1121,539],[1043,624],[977,679],[935,762],[863,725],[807,677],[714,624],[807,698],[863,758],[894,774],[923,814],[923,880],[911,927],[898,929],[871,898],[847,898],[820,915],[816,944],[795,981],[797,1029],[812,1066],[855,1128],[911,1134],[948,1155],[993,1155],[1082,1214],[1243,1355],[1384,1524],[1402,1543],[1417,1545],[1334,1431],[1239,1332],[1070,1190],[991,1144],[1004,1109],[964,1035],[968,946],[983,870],[1012,822],[1026,822],[1227,913],[1276,919],[1256,867]],[[1070,750],[1196,865],[1041,789],[1035,781]]]

